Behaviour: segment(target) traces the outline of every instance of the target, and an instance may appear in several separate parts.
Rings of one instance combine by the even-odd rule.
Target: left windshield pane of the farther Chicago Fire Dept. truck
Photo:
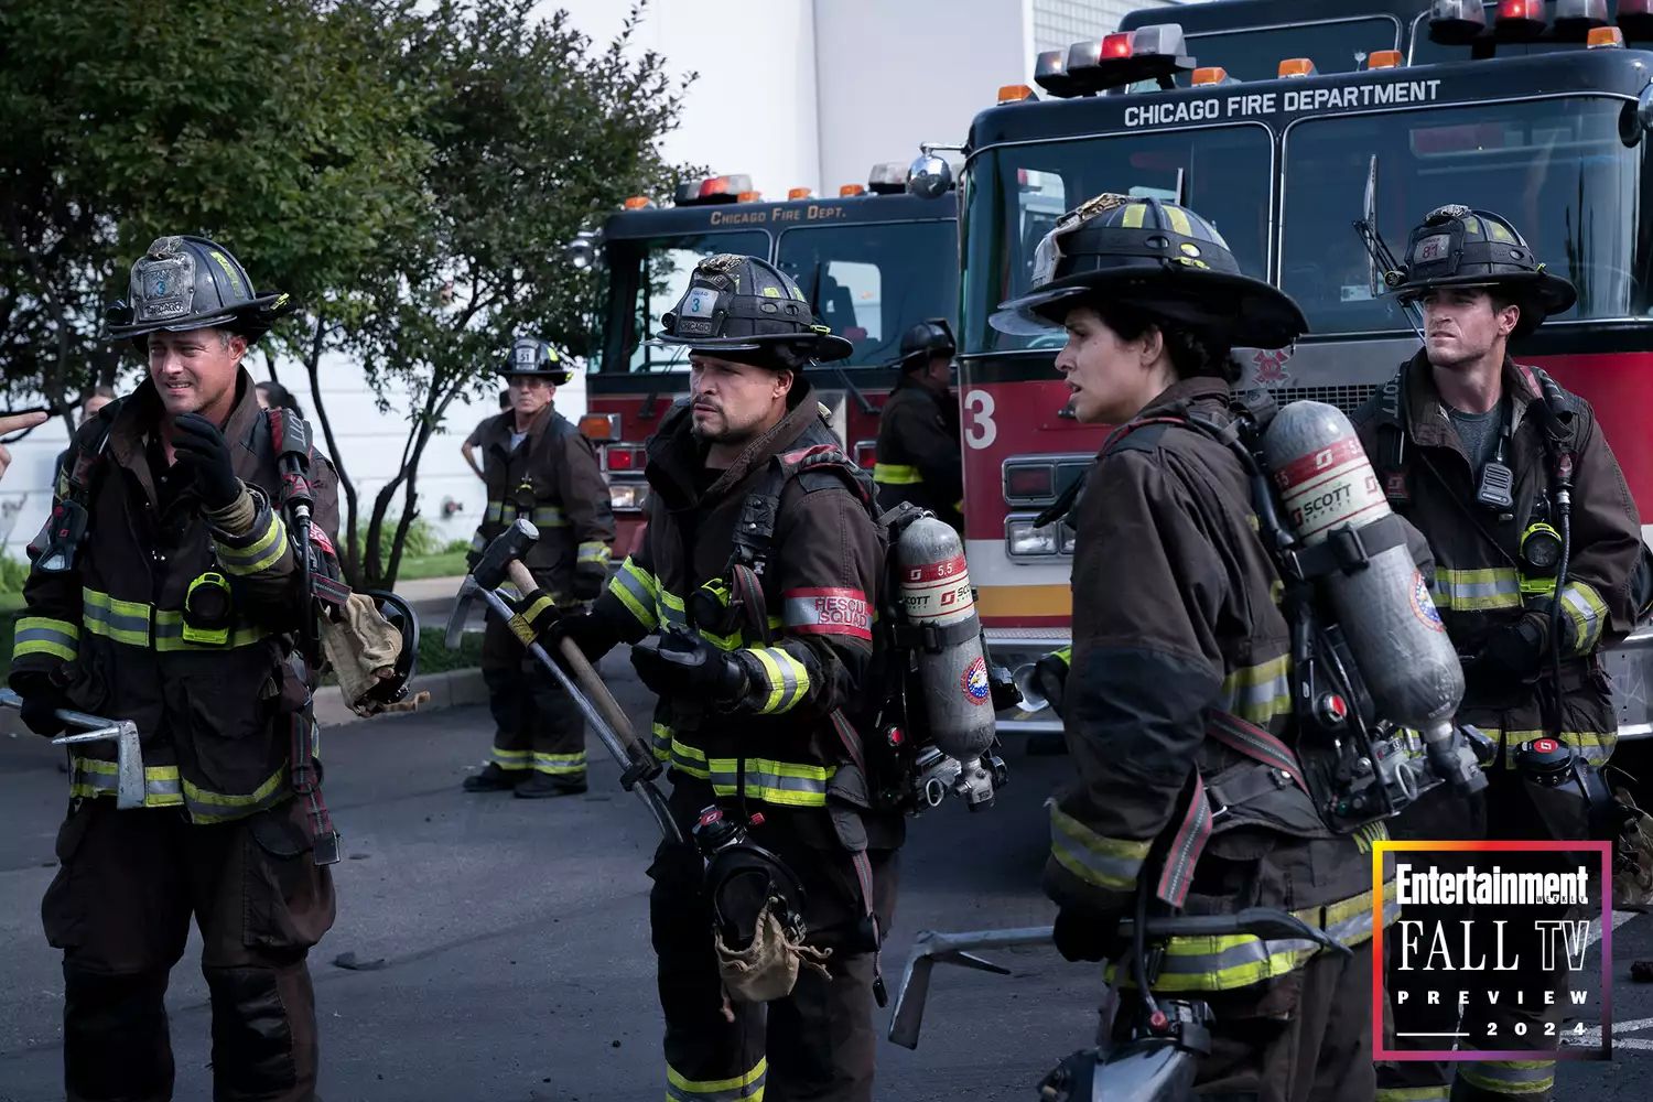
[[[622,357],[607,357],[603,372],[663,372],[688,360],[683,349],[651,345],[650,337],[660,330],[660,316],[683,297],[694,266],[714,253],[767,259],[769,235],[736,230],[608,243],[608,286],[615,296],[610,317],[625,340]]]

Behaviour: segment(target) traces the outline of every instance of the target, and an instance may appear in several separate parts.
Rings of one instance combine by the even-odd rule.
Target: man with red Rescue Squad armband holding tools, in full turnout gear
[[[648,443],[648,534],[559,631],[590,656],[631,643],[671,806],[699,839],[650,867],[666,1095],[871,1099],[903,826],[868,813],[841,709],[868,689],[884,562],[869,487],[802,373],[850,342],[790,278],[732,254],[701,261],[663,324],[689,349],[689,400]],[[732,829],[769,856],[714,856]]]

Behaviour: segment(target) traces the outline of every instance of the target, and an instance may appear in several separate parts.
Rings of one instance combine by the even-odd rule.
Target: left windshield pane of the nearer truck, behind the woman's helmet
[[[965,352],[1061,347],[1061,332],[1013,337],[987,319],[1002,301],[1028,289],[1033,249],[1065,211],[1103,192],[1174,200],[1179,172],[1187,205],[1217,226],[1245,273],[1265,276],[1273,144],[1260,126],[1003,145],[980,154],[965,177]]]

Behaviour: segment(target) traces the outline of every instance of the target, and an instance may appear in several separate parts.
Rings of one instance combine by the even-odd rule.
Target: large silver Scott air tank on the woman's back
[[[1293,401],[1263,435],[1284,507],[1283,524],[1312,547],[1342,527],[1390,515],[1389,499],[1349,418],[1321,401]],[[1319,582],[1331,596],[1360,677],[1382,719],[1435,740],[1451,735],[1463,667],[1428,585],[1405,544]]]

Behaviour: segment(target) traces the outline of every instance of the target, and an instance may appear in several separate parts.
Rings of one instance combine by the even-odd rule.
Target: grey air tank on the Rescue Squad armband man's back
[[[934,628],[917,648],[931,740],[947,757],[974,762],[993,745],[993,692],[959,534],[936,517],[912,520],[896,539],[896,570],[907,623]]]

